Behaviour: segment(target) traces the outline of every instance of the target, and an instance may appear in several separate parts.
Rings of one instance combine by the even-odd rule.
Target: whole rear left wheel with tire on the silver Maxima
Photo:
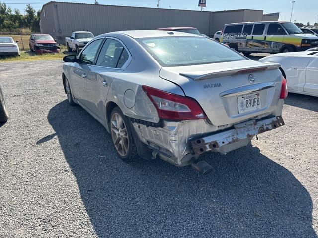
[[[118,156],[125,162],[138,158],[132,130],[130,120],[119,107],[115,107],[110,114],[110,133]]]

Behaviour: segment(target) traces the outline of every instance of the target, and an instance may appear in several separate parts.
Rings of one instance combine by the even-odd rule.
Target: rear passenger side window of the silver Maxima
[[[107,39],[100,50],[96,65],[108,68],[121,68],[128,60],[124,46],[116,40]]]

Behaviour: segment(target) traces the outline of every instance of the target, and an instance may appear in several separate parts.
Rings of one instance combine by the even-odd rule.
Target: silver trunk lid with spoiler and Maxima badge
[[[221,126],[277,109],[282,82],[279,66],[276,63],[241,60],[163,67],[159,75],[179,85],[186,96],[200,104],[212,124]],[[250,94],[257,94],[259,105],[252,111],[242,111],[244,96]]]

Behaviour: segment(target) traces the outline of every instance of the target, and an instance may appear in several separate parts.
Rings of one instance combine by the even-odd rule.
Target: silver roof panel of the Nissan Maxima
[[[163,31],[163,30],[162,31],[161,30],[160,31],[157,31],[157,30],[116,31],[116,32],[102,34],[100,36],[111,36],[112,34],[125,34],[134,39],[152,38],[152,37],[175,37],[175,36],[202,37],[199,35],[179,32],[179,31],[174,31],[173,34],[171,34],[171,31]]]

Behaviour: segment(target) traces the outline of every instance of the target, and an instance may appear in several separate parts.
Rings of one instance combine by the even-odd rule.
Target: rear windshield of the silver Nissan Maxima
[[[162,66],[183,66],[246,60],[245,57],[205,37],[154,37],[138,42]]]

